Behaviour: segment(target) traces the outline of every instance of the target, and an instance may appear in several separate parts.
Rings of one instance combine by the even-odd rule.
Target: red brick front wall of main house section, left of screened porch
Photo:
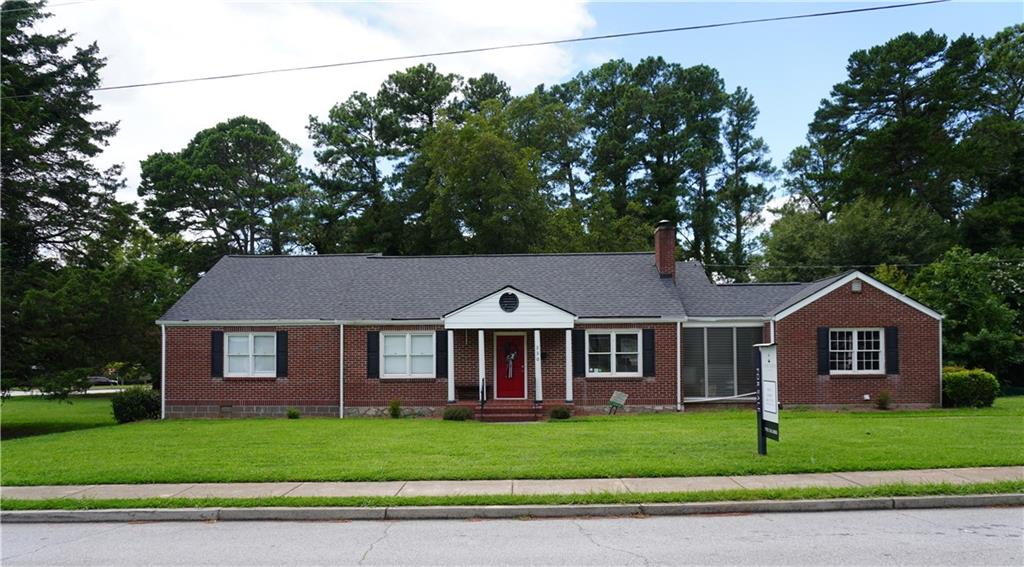
[[[669,407],[676,400],[675,324],[594,324],[581,329],[654,329],[656,376],[638,379],[573,378],[578,406],[604,407],[614,390],[629,394],[630,405]],[[447,402],[447,379],[380,379],[367,377],[367,333],[370,331],[430,331],[436,325],[345,325],[346,415],[378,413],[392,399],[421,413],[436,412]],[[211,333],[289,332],[289,376],[213,378]],[[488,397],[494,395],[495,333],[484,332],[484,363]],[[513,332],[514,333],[514,332]],[[534,332],[526,335],[526,395],[535,399]],[[473,392],[479,375],[477,331],[455,331],[456,385]],[[565,331],[541,332],[545,401],[565,400]],[[198,328],[167,329],[167,409],[169,417],[230,417],[283,415],[297,407],[304,415],[338,412],[338,328]]]

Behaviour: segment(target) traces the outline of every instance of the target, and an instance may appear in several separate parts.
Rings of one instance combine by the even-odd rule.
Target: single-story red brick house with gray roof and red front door
[[[483,418],[553,405],[750,403],[776,343],[783,405],[936,405],[941,315],[852,271],[718,285],[675,229],[630,254],[227,256],[157,321],[166,418],[379,415],[390,400]]]

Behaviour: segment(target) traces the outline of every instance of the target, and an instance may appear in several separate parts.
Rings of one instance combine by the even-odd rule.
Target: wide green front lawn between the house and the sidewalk
[[[423,419],[148,422],[3,441],[0,475],[5,485],[32,485],[690,476],[1022,465],[1024,398],[999,398],[994,407],[980,410],[790,410],[781,417],[781,442],[769,441],[767,456],[759,457],[754,413],[749,410],[538,424]]]

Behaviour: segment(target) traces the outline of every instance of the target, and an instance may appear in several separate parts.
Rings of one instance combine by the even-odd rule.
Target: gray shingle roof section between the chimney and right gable
[[[690,317],[766,317],[846,274],[810,283],[726,283],[708,279],[697,262],[677,262],[679,297]]]

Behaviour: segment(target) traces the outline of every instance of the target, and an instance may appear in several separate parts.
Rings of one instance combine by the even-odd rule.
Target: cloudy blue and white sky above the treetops
[[[108,64],[102,84],[407,55],[553,39],[831,11],[889,2],[336,2],[91,0],[52,2],[41,26],[95,41]],[[850,53],[905,32],[991,36],[1024,21],[1024,2],[950,2],[852,15],[755,24],[431,59],[444,73],[490,72],[514,94],[570,79],[611,58],[660,55],[718,69],[728,90],[743,86],[761,117],[757,133],[780,166],[803,142],[807,124],[833,85],[846,78]],[[229,118],[263,120],[303,149],[309,116],[323,117],[354,91],[376,92],[390,74],[422,62],[395,61],[97,92],[95,118],[119,121],[99,158],[123,164],[136,201],[139,162],[181,149],[197,132]]]

